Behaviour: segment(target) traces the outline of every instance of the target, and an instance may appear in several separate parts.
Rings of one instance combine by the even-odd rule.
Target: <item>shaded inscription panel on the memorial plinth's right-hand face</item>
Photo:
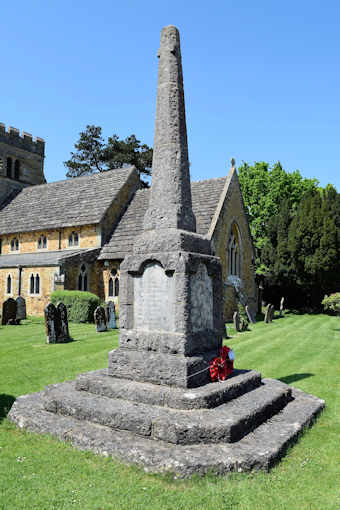
[[[205,264],[190,277],[190,287],[192,331],[213,329],[213,287]]]

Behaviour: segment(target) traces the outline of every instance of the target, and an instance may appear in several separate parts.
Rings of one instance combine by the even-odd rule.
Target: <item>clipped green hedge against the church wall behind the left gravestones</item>
[[[51,302],[63,302],[67,307],[68,320],[73,322],[93,322],[93,314],[101,300],[91,292],[80,290],[56,290],[51,294]]]

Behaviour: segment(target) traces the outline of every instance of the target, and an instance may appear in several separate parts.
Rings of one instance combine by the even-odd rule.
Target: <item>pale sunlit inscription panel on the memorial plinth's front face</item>
[[[156,262],[134,277],[134,328],[175,331],[175,279]]]

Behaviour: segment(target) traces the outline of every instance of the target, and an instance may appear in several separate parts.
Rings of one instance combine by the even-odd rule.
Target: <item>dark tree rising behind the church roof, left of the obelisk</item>
[[[68,169],[66,177],[79,177],[134,165],[142,184],[148,185],[142,177],[151,175],[152,148],[141,144],[135,135],[120,140],[114,134],[105,143],[101,127],[87,125],[74,146],[76,152],[71,152],[71,158],[64,162]]]

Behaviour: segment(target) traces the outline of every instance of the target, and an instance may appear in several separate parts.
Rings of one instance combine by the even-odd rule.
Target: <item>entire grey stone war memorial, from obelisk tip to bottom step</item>
[[[196,233],[178,30],[162,30],[151,198],[121,265],[108,368],[19,397],[9,419],[145,470],[269,469],[324,401],[254,370],[211,382],[222,348],[221,263]]]

